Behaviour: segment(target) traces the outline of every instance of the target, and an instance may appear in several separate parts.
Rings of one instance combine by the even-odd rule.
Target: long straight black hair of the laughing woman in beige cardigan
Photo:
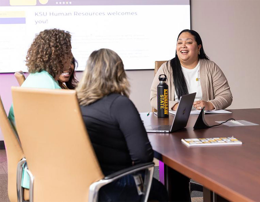
[[[189,32],[191,35],[194,36],[197,44],[201,45],[200,55],[198,55],[198,58],[199,59],[207,59],[208,60],[209,57],[204,52],[203,45],[202,45],[202,40],[201,40],[200,35],[198,34],[198,32],[196,32],[196,31],[194,31],[192,29],[184,29],[184,30],[182,30],[179,33],[177,41],[179,39],[179,36],[183,32]],[[189,92],[188,92],[188,88],[187,88],[187,85],[186,85],[186,82],[185,82],[185,78],[184,78],[183,72],[181,70],[181,63],[180,63],[180,60],[178,58],[177,51],[175,52],[175,57],[173,59],[171,59],[170,64],[171,64],[172,73],[173,73],[173,84],[174,84],[175,91],[176,91],[176,94],[178,96],[178,99],[180,99],[181,96],[187,95],[187,94],[189,94]]]

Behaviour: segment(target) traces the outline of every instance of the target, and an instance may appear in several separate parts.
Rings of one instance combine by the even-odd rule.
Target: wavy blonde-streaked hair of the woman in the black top
[[[112,50],[93,51],[77,88],[80,105],[89,105],[110,93],[129,96],[129,82],[121,58]]]

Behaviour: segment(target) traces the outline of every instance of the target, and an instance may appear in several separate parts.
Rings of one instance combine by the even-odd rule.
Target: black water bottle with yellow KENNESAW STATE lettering
[[[157,117],[169,117],[169,94],[166,79],[165,74],[159,75],[159,85],[157,85]]]

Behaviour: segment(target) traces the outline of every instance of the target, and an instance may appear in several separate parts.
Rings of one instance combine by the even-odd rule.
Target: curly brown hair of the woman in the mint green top
[[[72,56],[71,35],[68,31],[46,29],[31,44],[26,66],[30,73],[47,71],[53,78],[62,73],[64,61]]]

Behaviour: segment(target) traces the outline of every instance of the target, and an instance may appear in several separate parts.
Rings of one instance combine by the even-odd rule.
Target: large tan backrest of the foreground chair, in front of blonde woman
[[[88,201],[90,184],[104,176],[76,91],[12,87],[12,96],[33,201]]]

